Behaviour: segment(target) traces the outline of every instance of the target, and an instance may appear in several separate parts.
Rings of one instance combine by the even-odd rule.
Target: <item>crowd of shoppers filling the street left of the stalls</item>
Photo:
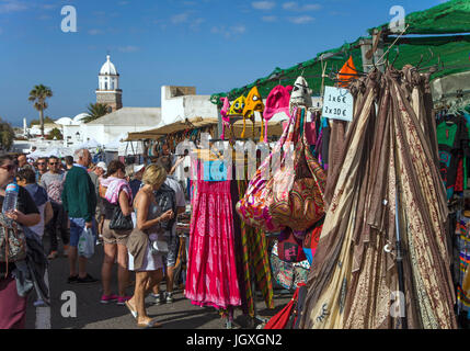
[[[0,157],[0,202],[7,185],[16,182],[16,210],[4,215],[25,231],[32,230],[43,244],[48,241],[43,248],[48,247],[44,257],[49,261],[59,257],[60,239],[61,254],[69,262],[66,283],[101,282],[102,304],[125,305],[139,327],[154,328],[160,325],[147,315],[146,296],[151,294],[156,304],[173,302],[176,217],[186,210],[184,186],[172,176],[180,162],[169,150],[152,163],[127,167],[119,160],[92,165],[88,149],[76,150],[73,157],[50,156],[34,162],[26,155],[15,159],[4,155]],[[88,272],[88,259],[79,252],[85,231],[103,245],[101,280]],[[116,263],[118,286],[113,292]],[[26,296],[16,291],[19,265],[0,262],[0,329],[25,325]],[[133,284],[130,296],[126,291]]]

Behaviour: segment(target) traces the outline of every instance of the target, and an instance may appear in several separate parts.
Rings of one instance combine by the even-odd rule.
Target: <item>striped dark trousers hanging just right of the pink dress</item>
[[[244,195],[247,181],[239,180],[239,194]],[[257,287],[261,290],[267,308],[274,308],[273,280],[271,275],[270,260],[267,258],[266,237],[263,231],[240,220],[241,242],[243,248],[242,265],[247,292],[247,308],[251,317],[254,317],[254,297],[252,291],[253,269]]]

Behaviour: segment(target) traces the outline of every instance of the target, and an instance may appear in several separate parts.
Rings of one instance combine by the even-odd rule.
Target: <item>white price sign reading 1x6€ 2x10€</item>
[[[323,116],[331,120],[353,121],[354,99],[347,89],[324,87]]]

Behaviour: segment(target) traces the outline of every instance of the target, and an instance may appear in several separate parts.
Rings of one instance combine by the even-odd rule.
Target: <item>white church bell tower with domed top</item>
[[[119,73],[111,61],[111,56],[106,56],[106,63],[101,67],[98,76],[96,103],[108,105],[108,112],[114,112],[123,107],[123,91],[119,89]]]

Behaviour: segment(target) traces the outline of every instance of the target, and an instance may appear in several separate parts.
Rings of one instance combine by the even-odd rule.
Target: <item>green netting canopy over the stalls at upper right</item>
[[[421,24],[420,21],[424,18],[426,20]],[[434,57],[426,63],[426,66],[437,64],[439,56],[444,63],[444,69],[432,75],[432,80],[470,70],[470,35],[465,35],[470,32],[469,19],[470,2],[468,0],[452,0],[425,11],[410,13],[406,16],[406,24],[410,24],[410,27],[405,34],[462,33],[462,35],[401,37],[398,42],[400,44],[400,55],[393,66],[397,69],[401,69],[404,65],[416,65],[421,60],[422,55],[424,55],[425,60],[429,58],[431,49]],[[408,22],[409,20],[410,22]],[[334,82],[330,78],[322,77],[324,66],[326,66],[326,75],[332,70],[337,71],[352,56],[354,65],[358,68],[363,67],[360,45],[365,39],[369,39],[369,37],[359,37],[353,43],[346,43],[340,47],[319,53],[316,58],[289,68],[282,69],[276,67],[272,73],[256,79],[250,84],[232,89],[228,92],[213,94],[210,101],[221,106],[220,98],[227,97],[230,101],[233,101],[241,95],[247,97],[249,91],[255,86],[262,98],[265,99],[273,88],[279,84],[279,81],[282,81],[283,86],[291,86],[299,76],[306,77],[309,87],[312,89],[312,94],[320,95],[323,79],[325,86],[334,86]],[[383,47],[385,52],[392,45],[393,41],[393,36],[387,38]],[[389,57],[390,61],[396,58],[396,55],[397,52],[392,48]]]

